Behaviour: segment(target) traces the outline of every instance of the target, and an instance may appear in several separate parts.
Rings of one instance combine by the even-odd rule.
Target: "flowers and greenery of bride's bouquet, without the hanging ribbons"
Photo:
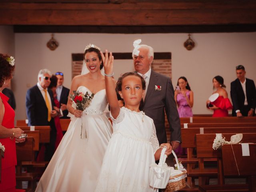
[[[78,110],[85,110],[91,103],[92,98],[94,97],[94,93],[91,95],[86,92],[86,94],[83,94],[82,92],[73,91],[73,95],[70,94],[70,99],[76,104],[76,109]]]

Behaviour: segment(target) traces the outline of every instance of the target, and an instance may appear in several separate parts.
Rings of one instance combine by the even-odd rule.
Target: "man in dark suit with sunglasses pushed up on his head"
[[[56,72],[56,77],[58,78],[57,82],[57,100],[60,102],[60,109],[63,112],[63,116],[60,117],[61,119],[68,119],[68,110],[67,110],[67,103],[68,103],[68,95],[69,95],[69,89],[63,86],[64,82],[64,75],[62,72]]]

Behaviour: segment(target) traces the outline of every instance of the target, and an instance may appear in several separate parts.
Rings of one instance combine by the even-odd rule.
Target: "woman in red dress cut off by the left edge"
[[[0,192],[15,192],[17,164],[15,141],[24,142],[25,139],[18,139],[23,131],[14,128],[15,112],[7,102],[9,98],[2,94],[2,90],[9,86],[12,79],[14,58],[0,54],[0,69],[0,143],[5,148],[2,157]]]

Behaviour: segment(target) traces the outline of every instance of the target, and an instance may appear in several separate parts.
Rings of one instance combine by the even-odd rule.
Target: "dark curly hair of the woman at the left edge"
[[[0,53],[0,87],[4,85],[4,81],[12,78],[12,73],[15,68],[15,65],[11,66],[9,64],[6,60],[7,58],[10,58],[10,55]]]

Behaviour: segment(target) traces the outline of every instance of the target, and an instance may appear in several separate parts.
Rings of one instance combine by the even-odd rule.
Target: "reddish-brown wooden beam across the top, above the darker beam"
[[[256,24],[256,1],[3,2],[0,25],[172,26]]]

